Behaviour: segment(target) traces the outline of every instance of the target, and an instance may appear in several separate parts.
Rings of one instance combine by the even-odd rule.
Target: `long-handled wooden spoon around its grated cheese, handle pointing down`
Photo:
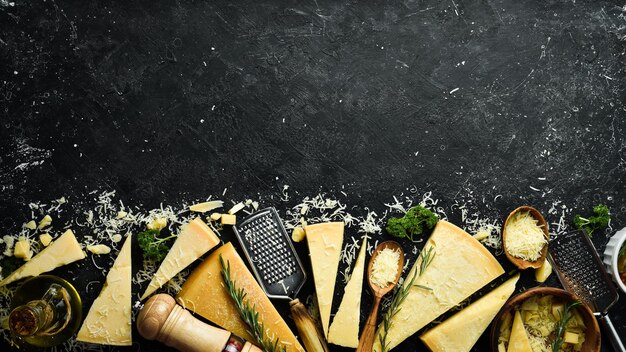
[[[374,260],[378,256],[378,254],[385,248],[389,248],[395,251],[400,252],[400,260],[398,260],[398,268],[396,272],[396,277],[393,282],[390,282],[387,287],[381,288],[376,284],[372,283],[372,267],[374,266]],[[402,268],[404,267],[404,251],[400,244],[395,241],[386,241],[378,245],[374,250],[374,254],[370,258],[370,262],[367,265],[367,282],[370,285],[370,289],[374,294],[374,306],[372,307],[372,312],[370,313],[369,318],[367,318],[367,322],[365,323],[365,328],[361,333],[361,338],[359,339],[359,346],[356,348],[357,352],[371,352],[372,346],[374,345],[374,334],[376,332],[376,319],[378,318],[378,308],[380,306],[380,300],[384,295],[389,293],[398,283],[400,279],[400,275],[402,275]]]

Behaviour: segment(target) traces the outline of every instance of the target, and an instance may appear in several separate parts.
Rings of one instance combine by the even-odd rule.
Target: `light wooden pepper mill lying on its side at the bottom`
[[[262,352],[230,331],[208,325],[167,294],[152,296],[139,312],[139,334],[183,352]]]

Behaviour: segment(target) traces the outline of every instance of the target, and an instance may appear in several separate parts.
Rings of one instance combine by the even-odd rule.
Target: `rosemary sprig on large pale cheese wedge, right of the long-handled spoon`
[[[411,277],[411,280],[409,280],[409,282],[404,282],[394,291],[393,297],[391,299],[391,304],[389,305],[389,308],[383,316],[383,321],[381,323],[382,329],[378,332],[378,339],[380,340],[380,346],[382,349],[381,352],[389,351],[389,344],[387,343],[387,333],[389,332],[389,329],[391,329],[391,319],[400,311],[400,305],[409,295],[411,288],[415,286],[424,290],[432,291],[430,287],[415,284],[415,280],[418,277],[422,276],[422,274],[424,274],[428,266],[433,262],[433,259],[435,259],[434,250],[435,249],[432,246],[428,249],[422,250],[422,252],[420,253],[422,262],[420,263],[419,268],[415,268],[415,273]]]

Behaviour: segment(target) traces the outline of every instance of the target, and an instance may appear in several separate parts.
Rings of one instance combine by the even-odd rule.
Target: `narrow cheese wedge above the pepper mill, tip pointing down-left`
[[[219,243],[217,236],[200,218],[185,224],[174,245],[150,281],[141,300],[150,296],[189,264],[200,258]]]

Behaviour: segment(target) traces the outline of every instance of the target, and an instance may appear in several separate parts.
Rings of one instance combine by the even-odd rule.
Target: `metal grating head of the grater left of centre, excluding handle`
[[[295,298],[306,274],[276,209],[259,210],[233,229],[265,294]]]

